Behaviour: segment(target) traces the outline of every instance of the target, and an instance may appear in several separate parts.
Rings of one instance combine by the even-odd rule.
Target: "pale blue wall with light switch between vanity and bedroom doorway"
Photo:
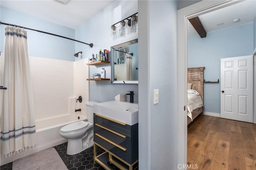
[[[139,0],[139,166],[177,169],[177,1]],[[159,103],[154,104],[154,90]]]

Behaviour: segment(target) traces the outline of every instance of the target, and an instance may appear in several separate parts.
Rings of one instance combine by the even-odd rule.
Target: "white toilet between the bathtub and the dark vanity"
[[[93,145],[93,104],[96,103],[86,102],[88,121],[70,123],[60,129],[60,136],[68,139],[67,154],[78,154]]]

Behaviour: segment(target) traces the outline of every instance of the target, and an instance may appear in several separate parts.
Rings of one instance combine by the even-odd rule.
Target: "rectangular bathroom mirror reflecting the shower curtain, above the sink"
[[[111,47],[111,83],[138,84],[138,39]]]

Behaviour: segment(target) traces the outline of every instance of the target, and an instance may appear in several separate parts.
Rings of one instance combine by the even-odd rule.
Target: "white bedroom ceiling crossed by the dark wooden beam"
[[[206,33],[208,33],[219,29],[253,22],[255,16],[256,0],[246,0],[244,2],[241,1],[238,4],[198,16],[198,18],[200,19]],[[233,23],[234,19],[240,19],[240,22]],[[224,25],[218,26],[218,23],[224,23]],[[198,33],[188,21],[188,36],[192,35],[198,35]]]

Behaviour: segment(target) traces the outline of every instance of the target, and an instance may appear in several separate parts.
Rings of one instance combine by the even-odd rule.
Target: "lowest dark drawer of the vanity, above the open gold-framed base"
[[[120,148],[113,145],[110,140],[107,140],[98,133],[94,133],[94,142],[97,143],[100,147],[104,147],[104,149],[108,150],[129,164],[132,164],[138,160],[138,151],[130,152],[127,149],[125,150],[125,148]]]

